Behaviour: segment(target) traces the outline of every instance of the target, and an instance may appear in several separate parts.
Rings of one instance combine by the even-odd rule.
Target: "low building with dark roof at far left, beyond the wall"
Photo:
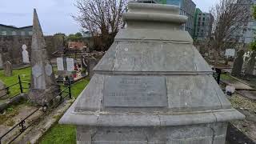
[[[33,26],[15,27],[0,24],[0,36],[28,36],[33,34],[32,29]]]

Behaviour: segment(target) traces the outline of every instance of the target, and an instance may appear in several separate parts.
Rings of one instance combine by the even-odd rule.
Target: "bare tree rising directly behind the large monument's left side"
[[[108,50],[120,28],[127,0],[77,0],[78,14],[73,16],[94,38],[94,48]]]

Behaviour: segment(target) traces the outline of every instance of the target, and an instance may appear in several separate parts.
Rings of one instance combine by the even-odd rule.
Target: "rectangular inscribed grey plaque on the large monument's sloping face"
[[[165,107],[166,80],[149,76],[109,76],[104,83],[104,106]]]

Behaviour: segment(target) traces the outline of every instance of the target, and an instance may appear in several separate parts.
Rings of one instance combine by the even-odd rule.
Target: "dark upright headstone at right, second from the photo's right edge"
[[[244,50],[238,51],[237,58],[234,58],[234,64],[231,71],[231,74],[234,76],[240,76],[242,72],[242,64],[243,64],[243,54],[245,54]]]

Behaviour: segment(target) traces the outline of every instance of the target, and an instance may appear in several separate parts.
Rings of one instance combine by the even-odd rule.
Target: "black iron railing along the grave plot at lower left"
[[[21,88],[21,92],[22,91],[22,82],[19,79],[19,82],[14,84],[13,86],[15,85],[20,85],[20,88]],[[61,86],[61,85],[58,85],[58,86]],[[18,138],[25,130],[27,130],[30,126],[32,126],[34,124],[34,122],[36,122],[36,120],[34,120],[33,122],[30,122],[28,123],[28,125],[26,126],[26,121],[29,120],[29,118],[31,118],[36,112],[38,112],[38,110],[42,110],[43,112],[46,112],[47,110],[50,110],[51,108],[54,108],[55,106],[58,106],[59,104],[61,104],[64,100],[64,98],[66,97],[69,97],[69,98],[72,98],[72,94],[71,94],[71,82],[70,80],[68,79],[68,81],[66,82],[66,85],[63,86],[63,90],[60,91],[58,94],[56,94],[54,96],[54,98],[57,98],[58,96],[60,97],[59,101],[58,102],[55,102],[52,106],[48,106],[48,105],[44,105],[44,106],[41,106],[41,107],[38,107],[36,110],[34,110],[33,112],[31,112],[30,114],[28,114],[26,116],[26,118],[23,118],[20,122],[18,122],[17,124],[15,124],[10,130],[8,130],[5,134],[2,134],[2,136],[0,137],[0,144],[2,144],[2,139],[5,138],[8,134],[10,134],[13,130],[17,130],[19,128],[19,132],[18,134],[16,134],[14,137],[11,137],[8,139],[8,142],[7,143],[10,143],[10,142],[14,142],[14,140],[16,138]],[[50,99],[50,101],[53,101],[54,98]]]

